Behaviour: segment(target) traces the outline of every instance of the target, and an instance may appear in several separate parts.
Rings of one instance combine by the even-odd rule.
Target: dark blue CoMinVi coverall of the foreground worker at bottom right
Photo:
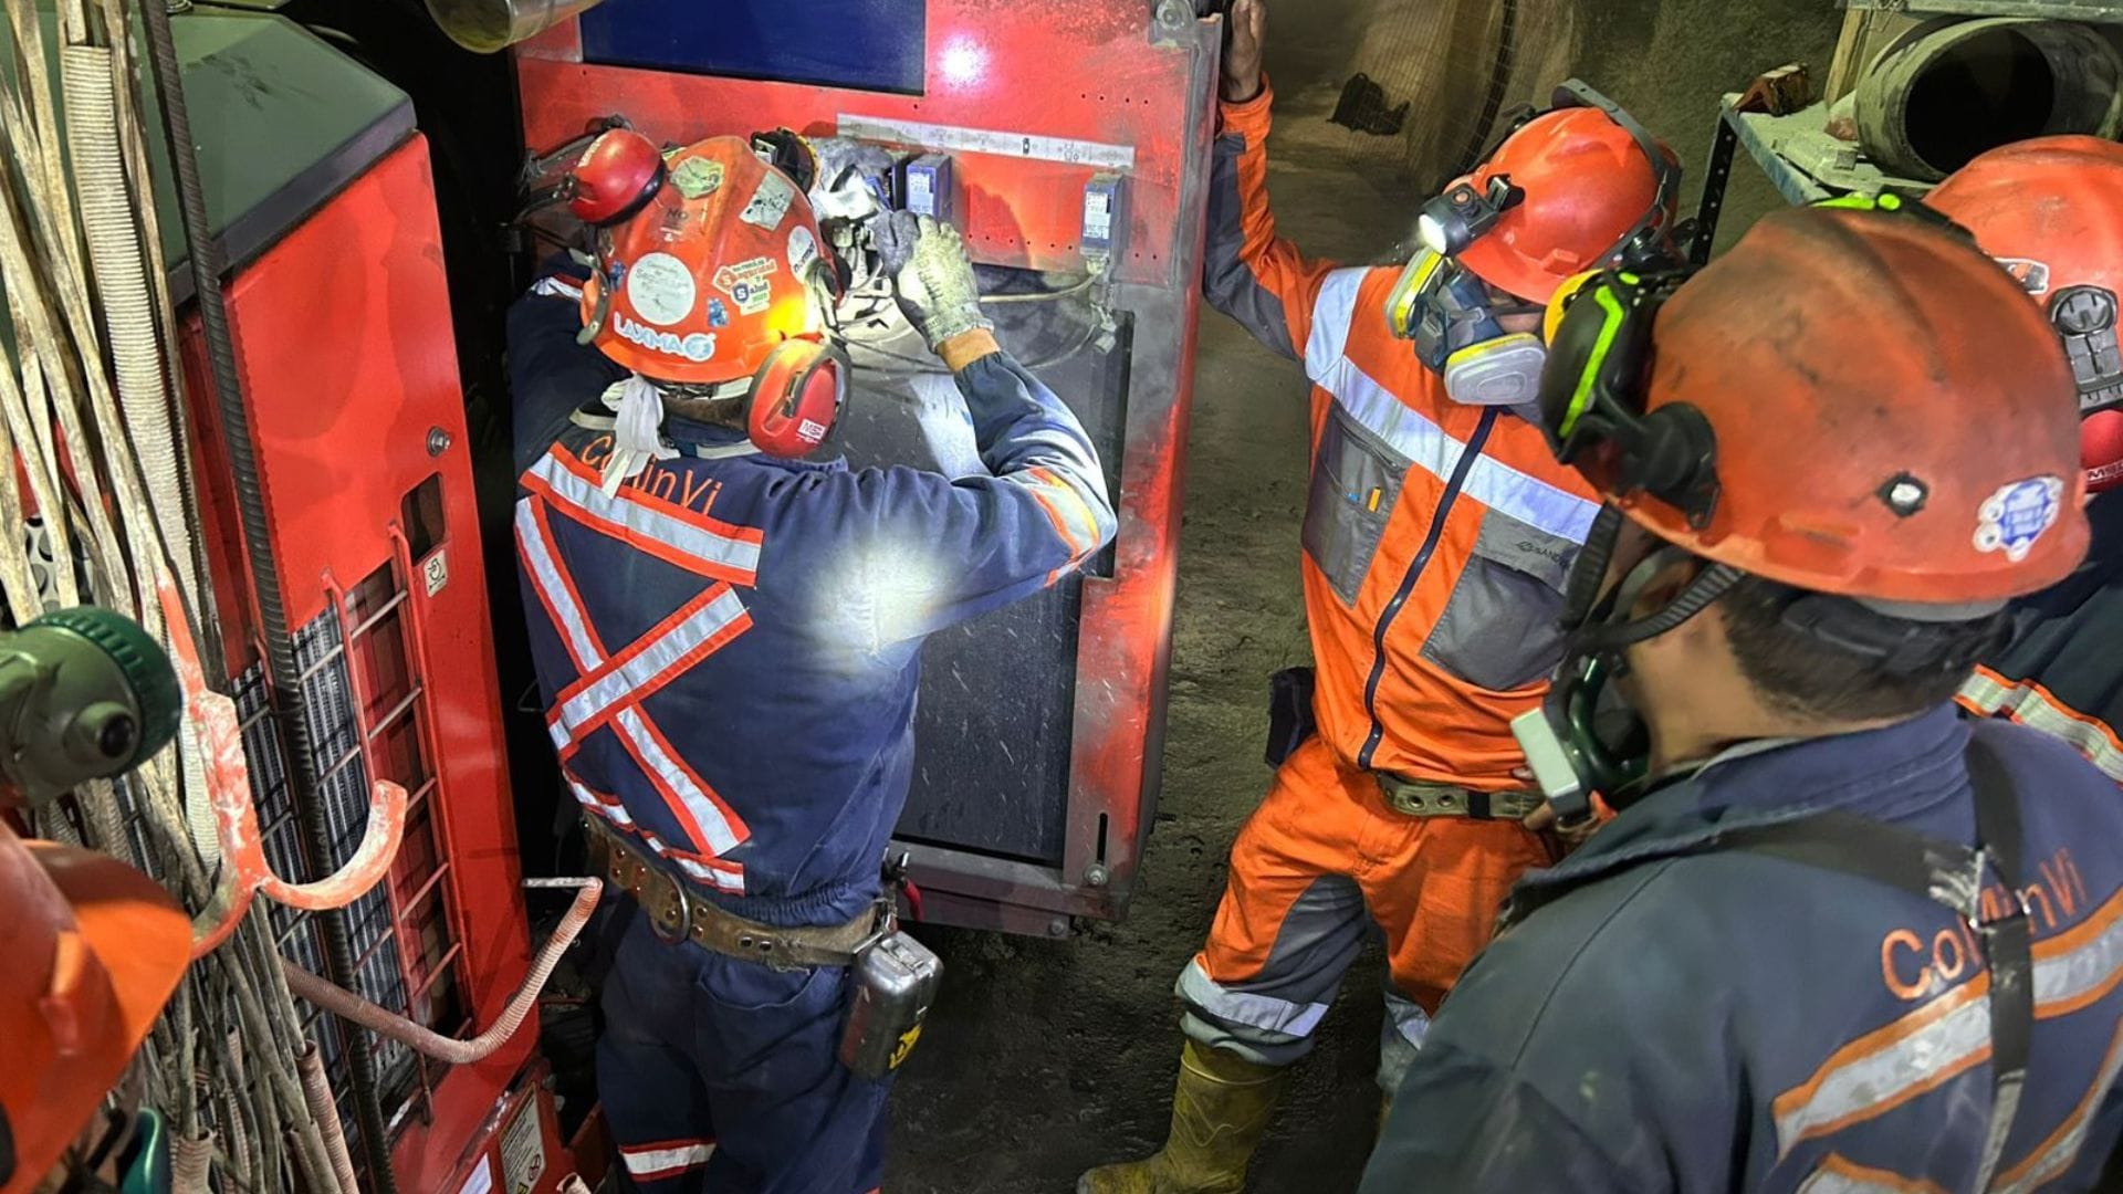
[[[1446,999],[1363,1194],[1970,1190],[1991,1111],[1972,931],[1875,880],[1692,852],[1824,809],[1972,843],[1970,733],[2019,801],[2034,937],[2027,1081],[1991,1190],[2089,1190],[2123,1132],[2123,801],[2064,744],[1943,705],[1728,752],[1520,880],[1582,886]]]

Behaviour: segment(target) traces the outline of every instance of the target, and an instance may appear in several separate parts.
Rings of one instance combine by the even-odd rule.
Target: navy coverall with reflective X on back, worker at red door
[[[1053,584],[1115,533],[1076,416],[1006,355],[957,374],[987,474],[851,472],[669,421],[616,497],[575,278],[510,310],[516,546],[548,729],[588,816],[775,926],[881,894],[907,801],[921,637]],[[631,905],[599,1096],[635,1190],[862,1194],[887,1084],[834,1056],[843,967],[667,945]]]

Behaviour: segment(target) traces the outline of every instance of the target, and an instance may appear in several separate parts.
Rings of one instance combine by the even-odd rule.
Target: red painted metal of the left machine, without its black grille
[[[342,595],[380,569],[397,569],[405,586],[403,652],[431,773],[412,799],[433,818],[446,860],[446,890],[422,899],[446,907],[454,952],[444,965],[465,1016],[493,1024],[529,969],[531,945],[427,142],[412,138],[380,159],[244,268],[227,297],[289,625],[344,618]],[[257,614],[195,323],[185,357],[202,521],[227,669],[238,673],[259,656]],[[437,474],[442,538],[410,559],[401,510]],[[359,627],[346,618],[346,629],[352,644]],[[389,761],[372,758],[372,775],[389,771]],[[422,875],[403,873],[425,865],[401,856],[395,888],[433,892]],[[535,1037],[533,1020],[486,1060],[422,1079],[422,1105],[393,1143],[401,1190],[444,1188]]]

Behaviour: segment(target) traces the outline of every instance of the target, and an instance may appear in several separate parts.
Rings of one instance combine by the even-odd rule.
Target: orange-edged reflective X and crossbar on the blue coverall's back
[[[582,593],[560,561],[550,512],[558,510],[584,527],[631,546],[654,542],[664,548],[652,550],[658,559],[669,561],[669,552],[692,552],[690,559],[701,567],[688,567],[688,572],[701,576],[737,574],[747,580],[756,576],[758,531],[701,521],[684,510],[671,514],[658,510],[654,499],[641,499],[626,491],[607,497],[590,484],[582,470],[580,461],[556,446],[527,474],[524,484],[531,489],[531,497],[516,504],[518,557],[577,671],[577,680],[556,695],[548,712],[554,748],[560,752],[563,769],[567,769],[590,733],[611,729],[684,831],[686,841],[664,843],[641,829],[620,801],[597,799],[571,778],[575,799],[588,812],[643,839],[652,852],[677,863],[688,875],[741,892],[743,869],[715,856],[741,846],[749,831],[707,780],[679,756],[648,716],[643,701],[741,635],[752,625],[743,601],[728,582],[718,580],[614,654],[599,637]],[[686,565],[679,563],[679,567]]]

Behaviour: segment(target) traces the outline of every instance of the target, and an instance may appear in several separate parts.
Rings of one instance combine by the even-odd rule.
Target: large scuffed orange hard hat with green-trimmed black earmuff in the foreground
[[[1565,455],[1601,395],[1637,395],[1609,419],[1626,436],[1577,459],[1658,538],[1815,593],[1979,612],[2085,557],[2064,353],[1964,238],[1913,215],[1781,210],[1624,314],[1662,285],[1620,272],[1580,291],[1560,385],[1543,387]]]

